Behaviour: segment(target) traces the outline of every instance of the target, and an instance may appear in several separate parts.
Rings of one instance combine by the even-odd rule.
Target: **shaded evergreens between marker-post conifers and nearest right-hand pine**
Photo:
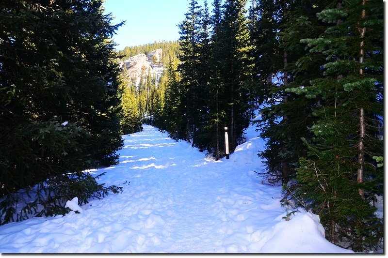
[[[312,137],[307,127],[314,121],[312,108],[319,105],[319,97],[306,98],[301,92],[310,80],[321,76],[325,59],[320,53],[309,53],[300,40],[323,33],[326,27],[319,23],[316,13],[325,6],[324,1],[301,0],[261,1],[257,7],[259,19],[254,36],[260,58],[256,70],[260,75],[260,98],[268,98],[266,103],[270,104],[261,110],[262,118],[257,121],[260,136],[267,139],[267,148],[259,156],[264,158],[264,176],[271,183],[287,183],[295,177],[298,159],[307,153],[301,137]],[[273,81],[271,75],[277,80]]]

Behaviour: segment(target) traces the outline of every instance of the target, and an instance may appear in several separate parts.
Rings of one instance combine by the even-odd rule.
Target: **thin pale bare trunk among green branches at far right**
[[[365,2],[366,0],[362,0],[362,5],[364,6],[365,5]],[[365,9],[362,9],[361,11],[361,20],[363,20],[365,18],[365,15],[366,15],[366,12],[365,12]],[[364,46],[364,37],[365,37],[365,30],[366,28],[359,28],[359,31],[360,31],[360,38],[361,38],[361,42],[360,42],[360,64],[362,65],[362,63],[364,62],[364,49],[363,49],[363,46]],[[364,75],[364,70],[362,68],[360,68],[360,71],[359,71],[360,75],[363,76]],[[366,136],[366,130],[365,130],[365,111],[364,111],[364,108],[363,107],[360,107],[360,113],[359,113],[359,129],[360,129],[360,141],[358,143],[358,150],[359,150],[359,154],[358,154],[358,169],[357,169],[357,182],[358,183],[362,183],[364,182],[364,138]],[[359,188],[358,189],[358,194],[361,196],[361,198],[364,198],[364,189],[361,189]]]

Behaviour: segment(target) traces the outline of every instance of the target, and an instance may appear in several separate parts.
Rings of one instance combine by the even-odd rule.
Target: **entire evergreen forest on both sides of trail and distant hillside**
[[[263,183],[283,186],[284,205],[318,214],[330,242],[382,245],[382,1],[189,0],[177,42],[119,51],[121,24],[102,0],[0,6],[0,224],[26,192],[36,200],[17,220],[65,213],[75,193],[80,204],[118,193],[82,171],[115,164],[121,135],[143,123],[217,160],[224,128],[233,152],[259,109]],[[119,61],[157,48],[158,82],[135,85],[120,71]]]

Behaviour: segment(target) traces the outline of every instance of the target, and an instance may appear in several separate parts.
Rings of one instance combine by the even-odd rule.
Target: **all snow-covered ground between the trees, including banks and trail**
[[[280,205],[281,187],[261,183],[254,127],[219,161],[151,126],[124,136],[100,182],[123,186],[78,207],[0,227],[0,253],[352,253],[329,243],[317,215]]]

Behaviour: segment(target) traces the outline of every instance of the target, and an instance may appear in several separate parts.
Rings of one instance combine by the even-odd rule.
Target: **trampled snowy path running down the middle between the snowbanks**
[[[256,173],[244,171],[243,166],[236,169],[233,159],[206,160],[204,154],[190,144],[162,137],[150,126],[127,136],[121,154],[116,172],[129,173],[133,177],[128,179],[129,192],[138,199],[129,203],[131,210],[136,211],[132,215],[143,221],[145,228],[151,228],[149,236],[139,237],[135,252],[148,252],[147,241],[151,246],[159,243],[152,247],[152,252],[247,252],[246,242],[252,242],[250,239],[241,239],[241,246],[233,237],[227,240],[235,236],[236,230],[242,234],[254,233],[251,226],[241,228],[245,225],[242,222],[268,216],[273,219],[284,212],[283,209],[267,212],[264,208],[261,216],[257,216],[260,207],[274,204],[280,207],[279,188],[271,189],[276,198],[264,196],[260,200],[261,184],[251,180],[256,178]],[[122,164],[130,165],[119,172],[117,168]],[[244,177],[248,181],[243,181]],[[249,190],[242,182],[251,185]],[[251,192],[255,184],[257,190]],[[260,200],[260,207],[256,206],[255,200]],[[146,207],[138,209],[144,203]],[[256,216],[253,210],[256,210]],[[152,230],[155,227],[160,227],[162,236],[153,236],[152,232],[159,231]],[[223,239],[230,244],[226,245]],[[143,240],[144,244],[140,244]]]

